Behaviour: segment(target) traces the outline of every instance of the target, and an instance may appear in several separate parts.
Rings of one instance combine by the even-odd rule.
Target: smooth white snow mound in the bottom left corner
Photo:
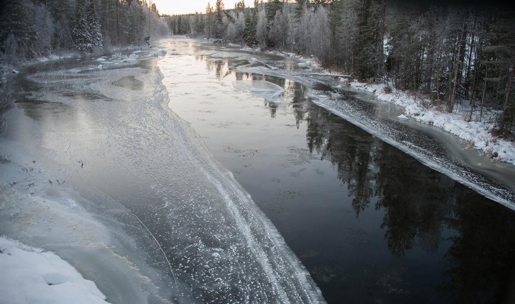
[[[0,301],[107,303],[95,283],[52,252],[0,237]]]

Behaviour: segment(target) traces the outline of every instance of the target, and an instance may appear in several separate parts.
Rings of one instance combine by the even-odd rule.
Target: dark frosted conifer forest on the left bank
[[[11,0],[2,3],[0,60],[55,50],[94,52],[169,34],[155,5],[141,0]]]

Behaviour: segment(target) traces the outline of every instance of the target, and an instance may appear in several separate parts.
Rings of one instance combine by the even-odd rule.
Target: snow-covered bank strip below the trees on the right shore
[[[374,93],[377,99],[402,106],[405,116],[417,121],[432,124],[461,139],[470,141],[475,149],[482,151],[492,159],[515,165],[515,144],[512,141],[493,136],[491,131],[495,128],[497,111],[485,109],[482,121],[479,121],[479,111],[474,110],[473,120],[467,121],[471,108],[468,102],[457,102],[453,113],[439,111],[427,99],[415,98],[405,92],[391,89],[385,90],[386,84],[368,84],[357,81],[349,85],[358,90]]]

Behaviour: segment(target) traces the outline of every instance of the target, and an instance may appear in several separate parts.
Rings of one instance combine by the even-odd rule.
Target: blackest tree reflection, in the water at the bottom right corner
[[[455,213],[447,224],[457,230],[445,259],[449,281],[442,284],[456,303],[515,302],[515,221],[513,212],[483,202],[465,187],[456,191]]]

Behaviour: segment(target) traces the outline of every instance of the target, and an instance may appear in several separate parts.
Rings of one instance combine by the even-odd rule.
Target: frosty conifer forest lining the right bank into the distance
[[[256,0],[252,8],[242,1],[225,9],[217,0],[205,13],[168,16],[167,22],[174,34],[313,55],[358,80],[430,96],[449,112],[457,99],[470,100],[477,111],[499,109],[493,132],[509,136],[514,16],[495,2]]]

